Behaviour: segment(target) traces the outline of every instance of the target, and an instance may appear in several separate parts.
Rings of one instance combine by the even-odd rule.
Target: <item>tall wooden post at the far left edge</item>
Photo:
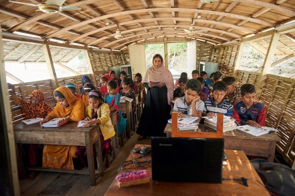
[[[11,195],[20,196],[20,186],[19,186],[19,179],[18,179],[18,170],[17,170],[17,157],[16,157],[16,145],[14,140],[14,131],[12,127],[12,119],[11,119],[11,110],[9,104],[9,95],[5,77],[5,70],[4,70],[4,57],[3,57],[3,48],[2,48],[2,35],[0,29],[0,96],[1,96],[1,121],[3,126],[1,127],[1,135],[0,137],[4,139],[3,146],[5,147],[3,151],[5,152],[3,155],[1,154],[2,158],[6,155],[6,164],[8,165],[9,170],[5,171],[5,174],[8,174],[9,181],[7,186],[4,185],[3,188],[9,188]],[[2,135],[3,134],[3,135]],[[1,141],[3,141],[1,139]],[[2,159],[3,160],[3,159]],[[3,168],[1,168],[3,170]],[[7,190],[8,193],[8,190]]]

